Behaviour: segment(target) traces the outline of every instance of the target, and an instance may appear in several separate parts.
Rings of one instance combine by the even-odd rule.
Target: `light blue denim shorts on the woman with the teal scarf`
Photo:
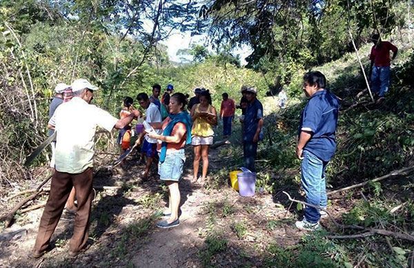
[[[178,182],[183,173],[186,154],[184,149],[167,150],[166,160],[158,162],[158,174],[160,180],[172,180]]]

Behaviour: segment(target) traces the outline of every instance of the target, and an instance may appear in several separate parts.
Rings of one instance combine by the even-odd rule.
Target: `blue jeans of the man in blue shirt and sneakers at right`
[[[304,151],[304,159],[301,164],[302,188],[306,194],[306,202],[319,207],[326,207],[325,169],[328,162],[320,160],[309,151]],[[305,219],[308,222],[316,223],[321,217],[318,209],[305,207]]]

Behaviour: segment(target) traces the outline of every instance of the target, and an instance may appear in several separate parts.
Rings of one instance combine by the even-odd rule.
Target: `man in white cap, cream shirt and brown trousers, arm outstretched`
[[[49,120],[49,125],[55,126],[57,131],[55,173],[31,258],[39,258],[49,248],[50,238],[72,186],[76,189],[78,209],[69,243],[69,255],[77,256],[85,247],[92,206],[92,158],[96,128],[100,126],[107,131],[112,131],[112,128],[120,129],[140,115],[139,111],[134,110],[128,117],[117,119],[91,105],[94,91],[98,88],[86,79],[75,80],[71,87],[73,98],[70,102],[61,104]]]

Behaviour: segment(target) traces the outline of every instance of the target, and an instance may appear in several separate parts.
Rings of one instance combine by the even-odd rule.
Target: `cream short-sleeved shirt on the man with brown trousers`
[[[77,174],[93,166],[94,136],[97,126],[112,131],[118,119],[80,97],[57,107],[49,124],[55,126],[55,169]]]

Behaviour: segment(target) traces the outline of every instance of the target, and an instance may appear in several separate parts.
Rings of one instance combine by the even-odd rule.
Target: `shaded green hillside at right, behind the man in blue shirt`
[[[350,104],[369,102],[367,93],[360,99],[356,97],[366,86],[355,54],[346,54],[342,59],[315,68],[326,75],[330,88],[343,99],[337,153],[327,170],[328,187],[338,189],[413,166],[414,95],[410,73],[413,73],[414,53],[413,48],[398,41],[397,45],[402,49],[394,62],[393,84],[381,106],[367,103],[347,110]],[[364,46],[359,51],[360,55],[367,55],[370,47]],[[366,57],[363,57],[363,63],[368,65]],[[298,73],[293,81],[300,82],[301,76],[302,73]],[[269,103],[275,101],[268,98],[262,102],[269,110],[274,106]],[[299,160],[295,159],[294,148],[299,112],[304,104],[304,99],[291,98],[285,111],[270,112],[266,117],[266,128],[272,142],[266,135],[259,146],[257,186],[272,192],[276,202],[286,202],[280,194],[283,189],[290,189],[293,193],[299,187]],[[235,165],[242,164],[240,153],[236,147],[222,151],[224,157],[233,156]],[[219,185],[226,172],[217,175],[215,184],[210,186]],[[346,224],[411,233],[414,188],[410,178],[413,176],[408,174],[335,195],[328,209],[334,212],[336,220]],[[396,213],[389,212],[403,202],[404,206]],[[328,227],[327,231],[342,232],[333,227]],[[362,260],[368,267],[400,267],[406,265],[409,249],[410,244],[404,240],[385,240],[384,237],[327,240],[324,233],[317,233],[305,236],[295,247],[268,245],[270,254],[265,266],[304,267],[313,263],[332,267],[355,265]],[[337,252],[337,255],[332,252]]]

